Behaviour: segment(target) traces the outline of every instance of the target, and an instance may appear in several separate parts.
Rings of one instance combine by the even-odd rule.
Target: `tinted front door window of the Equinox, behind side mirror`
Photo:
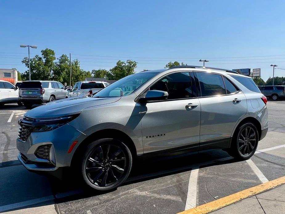
[[[151,86],[150,90],[168,92],[168,100],[194,97],[189,72],[169,74]]]

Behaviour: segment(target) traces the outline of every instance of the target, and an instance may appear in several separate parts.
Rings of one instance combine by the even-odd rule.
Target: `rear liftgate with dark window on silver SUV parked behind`
[[[39,81],[27,81],[22,82],[20,91],[21,97],[40,97],[41,96],[42,83]]]

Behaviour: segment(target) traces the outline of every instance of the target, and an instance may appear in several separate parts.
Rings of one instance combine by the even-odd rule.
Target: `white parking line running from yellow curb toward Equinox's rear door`
[[[196,207],[197,203],[197,184],[198,184],[199,166],[191,170],[188,184],[188,193],[185,210]]]

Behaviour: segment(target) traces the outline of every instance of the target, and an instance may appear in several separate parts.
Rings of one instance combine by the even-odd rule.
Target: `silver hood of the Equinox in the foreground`
[[[40,105],[25,113],[25,116],[35,119],[68,116],[78,114],[88,107],[116,102],[120,98],[71,97]]]

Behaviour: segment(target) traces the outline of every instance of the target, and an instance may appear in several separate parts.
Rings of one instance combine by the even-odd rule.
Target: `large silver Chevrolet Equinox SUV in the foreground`
[[[96,190],[118,187],[138,160],[209,149],[245,160],[267,133],[266,103],[250,77],[231,70],[138,72],[92,97],[28,111],[19,120],[18,159],[30,171],[71,166]]]

